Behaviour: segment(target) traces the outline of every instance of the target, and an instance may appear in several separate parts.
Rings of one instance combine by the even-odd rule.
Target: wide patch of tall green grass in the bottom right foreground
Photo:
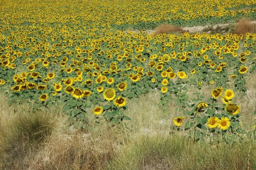
[[[192,143],[180,135],[143,135],[125,146],[108,170],[245,170],[256,168],[256,143]]]

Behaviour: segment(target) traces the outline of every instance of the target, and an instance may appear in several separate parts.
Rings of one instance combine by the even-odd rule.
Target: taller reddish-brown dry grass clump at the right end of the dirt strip
[[[236,24],[236,27],[234,29],[234,34],[246,35],[247,32],[254,33],[256,31],[255,29],[256,27],[253,25],[253,23],[250,23],[250,20],[241,19]]]

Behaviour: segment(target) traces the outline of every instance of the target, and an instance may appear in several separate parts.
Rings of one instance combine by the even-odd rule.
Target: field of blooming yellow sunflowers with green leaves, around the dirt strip
[[[255,74],[256,34],[144,31],[160,24],[256,20],[255,5],[252,0],[3,0],[0,90],[9,105],[30,102],[35,111],[64,105],[77,129],[90,128],[87,115],[93,113],[95,124],[131,120],[127,103],[156,90],[159,107],[171,100],[179,106],[180,117],[170,125],[174,132],[188,130],[196,140],[221,134],[233,143],[242,108],[232,100],[247,95],[245,78]],[[211,99],[204,100],[202,86],[211,87]],[[191,87],[198,92],[189,100]]]

